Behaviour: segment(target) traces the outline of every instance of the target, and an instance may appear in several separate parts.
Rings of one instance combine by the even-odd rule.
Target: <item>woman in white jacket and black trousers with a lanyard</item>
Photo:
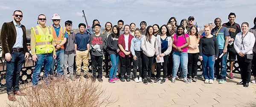
[[[234,48],[236,49],[237,62],[239,64],[242,81],[237,84],[242,84],[244,87],[249,86],[251,77],[251,66],[253,59],[253,46],[255,43],[254,34],[248,31],[249,24],[242,23],[242,32],[236,34]]]

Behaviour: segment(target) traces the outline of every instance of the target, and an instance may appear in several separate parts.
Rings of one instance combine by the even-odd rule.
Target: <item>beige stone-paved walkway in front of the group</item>
[[[97,81],[97,80],[96,80]],[[198,82],[184,83],[177,79],[176,83],[166,81],[165,84],[143,84],[131,82],[108,83],[103,77],[102,87],[106,88],[106,96],[119,99],[108,107],[255,107],[256,84],[249,87],[236,85],[241,79],[227,79],[224,84],[204,84]],[[97,81],[98,82],[98,81]],[[154,81],[153,81],[154,82]],[[0,94],[0,106],[6,106],[7,94]],[[104,107],[104,106],[102,106]]]

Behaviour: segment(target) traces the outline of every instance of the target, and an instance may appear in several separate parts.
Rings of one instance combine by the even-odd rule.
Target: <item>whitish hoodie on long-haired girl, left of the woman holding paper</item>
[[[151,43],[149,43],[146,40],[146,36],[142,37],[141,49],[143,50],[143,53],[146,56],[148,56],[148,57],[154,56],[154,51],[156,50],[155,48],[157,48],[157,38],[154,35],[152,35],[152,37],[151,37]]]

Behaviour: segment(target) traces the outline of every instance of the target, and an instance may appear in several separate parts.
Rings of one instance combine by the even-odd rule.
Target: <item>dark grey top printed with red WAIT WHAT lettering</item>
[[[107,39],[103,34],[96,36],[95,34],[90,35],[90,46],[92,47],[92,55],[103,56],[103,49],[107,48]]]

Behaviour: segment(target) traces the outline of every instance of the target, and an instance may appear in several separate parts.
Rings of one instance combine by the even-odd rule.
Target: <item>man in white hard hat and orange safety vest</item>
[[[56,59],[57,59],[57,75],[61,76],[63,74],[64,69],[64,44],[67,41],[67,31],[66,28],[59,25],[61,22],[61,17],[59,14],[52,15],[53,24],[49,26],[52,31],[53,44],[55,46],[56,51]],[[54,72],[55,59],[52,60],[51,72]]]

